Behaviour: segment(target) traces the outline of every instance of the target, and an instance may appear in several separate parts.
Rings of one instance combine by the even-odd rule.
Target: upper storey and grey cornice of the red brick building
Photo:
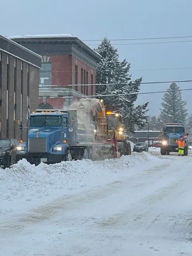
[[[42,56],[41,85],[95,84],[100,54],[72,35],[25,35],[8,37]],[[95,86],[71,86],[95,95]]]

